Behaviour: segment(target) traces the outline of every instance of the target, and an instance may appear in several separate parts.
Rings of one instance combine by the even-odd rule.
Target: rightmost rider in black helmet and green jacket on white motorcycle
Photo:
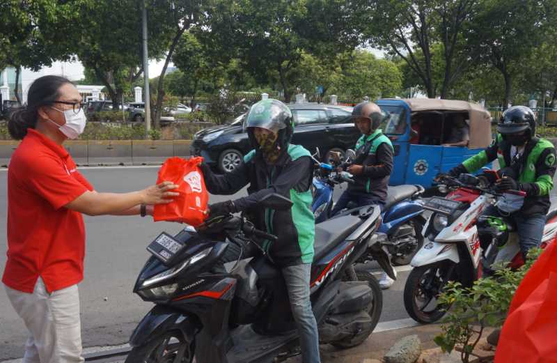
[[[496,190],[521,190],[526,192],[524,204],[509,217],[517,226],[520,250],[524,258],[528,250],[538,247],[542,240],[545,216],[551,202],[556,169],[556,151],[550,141],[535,136],[535,114],[525,106],[505,110],[497,124],[497,138],[491,146],[478,155],[464,160],[451,169],[449,176],[473,173],[485,164],[499,160],[499,180]],[[501,212],[489,206],[483,215],[500,216]]]

